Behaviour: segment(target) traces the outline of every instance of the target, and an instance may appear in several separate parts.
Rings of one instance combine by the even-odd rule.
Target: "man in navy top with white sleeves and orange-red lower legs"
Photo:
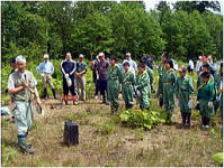
[[[65,60],[61,63],[61,71],[63,74],[63,100],[65,104],[68,104],[68,94],[69,91],[72,95],[73,104],[77,104],[77,87],[76,87],[76,62],[72,60],[72,55],[70,52],[67,52],[65,55]]]

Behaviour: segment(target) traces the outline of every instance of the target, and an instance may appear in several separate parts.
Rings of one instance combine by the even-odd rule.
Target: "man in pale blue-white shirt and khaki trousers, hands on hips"
[[[47,85],[50,85],[54,98],[56,99],[55,87],[52,82],[52,74],[54,73],[54,65],[49,61],[49,55],[44,54],[44,61],[41,62],[36,71],[41,75],[43,87],[44,87],[44,95],[43,97],[46,99],[48,97],[47,94]]]

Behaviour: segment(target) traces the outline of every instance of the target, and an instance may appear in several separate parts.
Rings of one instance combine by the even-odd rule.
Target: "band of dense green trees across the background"
[[[48,52],[61,59],[65,52],[92,59],[98,52],[123,58],[131,52],[157,58],[222,57],[222,16],[218,2],[162,1],[145,11],[144,2],[2,2],[2,60],[23,54],[29,60]],[[203,11],[203,12],[202,12]]]

